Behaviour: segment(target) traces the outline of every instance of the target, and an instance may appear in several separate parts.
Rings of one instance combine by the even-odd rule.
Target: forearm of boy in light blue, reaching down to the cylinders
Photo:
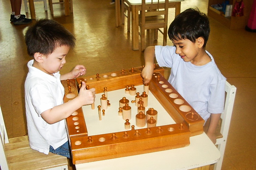
[[[155,46],[146,47],[144,51],[145,67],[141,72],[143,83],[147,84],[152,78],[154,72]]]

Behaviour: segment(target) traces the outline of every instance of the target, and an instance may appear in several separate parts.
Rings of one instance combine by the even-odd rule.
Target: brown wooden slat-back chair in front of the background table
[[[163,45],[167,43],[167,23],[168,23],[168,4],[169,1],[165,0],[164,8],[158,1],[151,0],[150,5],[142,0],[142,11],[139,16],[139,27],[141,36],[141,50],[145,49],[145,30],[155,29],[155,40],[158,38],[158,30],[163,34]],[[160,30],[164,28],[164,31]]]

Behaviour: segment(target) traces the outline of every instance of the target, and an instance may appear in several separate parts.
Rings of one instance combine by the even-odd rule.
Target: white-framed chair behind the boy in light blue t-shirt
[[[225,100],[224,111],[221,115],[221,120],[219,121],[217,129],[215,131],[215,135],[217,136],[217,141],[215,145],[218,145],[217,147],[220,151],[220,159],[217,163],[215,163],[214,170],[221,170],[221,167],[222,167],[226,141],[228,138],[229,125],[230,125],[231,115],[233,112],[233,106],[235,101],[236,87],[234,85],[230,85],[228,81],[226,81],[225,92],[226,92],[226,100]],[[208,124],[209,124],[209,120],[206,122],[204,126],[204,131],[207,131]]]

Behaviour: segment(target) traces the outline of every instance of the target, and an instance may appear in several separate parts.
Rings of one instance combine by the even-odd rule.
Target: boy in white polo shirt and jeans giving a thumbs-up
[[[83,82],[78,97],[63,103],[64,87],[60,80],[74,79],[86,73],[77,65],[60,75],[66,55],[75,45],[74,36],[58,22],[42,19],[25,35],[29,61],[25,81],[25,104],[30,147],[39,152],[70,158],[64,119],[83,105],[94,103],[95,89],[86,90]]]

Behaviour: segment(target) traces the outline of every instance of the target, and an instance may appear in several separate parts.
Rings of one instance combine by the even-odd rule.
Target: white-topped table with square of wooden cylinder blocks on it
[[[96,77],[76,79],[78,83],[74,83],[74,80],[62,81],[66,95],[74,95],[75,88],[80,81],[86,81],[86,85],[89,85],[90,88],[94,87],[97,94],[95,109],[92,109],[90,105],[83,106],[66,119],[72,159],[76,169],[105,170],[122,167],[127,170],[185,170],[192,168],[208,170],[209,164],[218,161],[220,153],[203,132],[203,119],[162,77],[163,69],[159,66],[155,67],[154,76],[149,83],[148,97],[150,100],[146,109],[154,107],[159,111],[158,127],[150,128],[150,133],[145,132],[148,130],[145,127],[142,129],[136,127],[134,114],[137,114],[137,107],[135,103],[131,103],[133,111],[129,122],[131,125],[135,125],[136,131],[124,130],[124,120],[118,116],[117,108],[119,106],[116,105],[123,96],[126,96],[129,101],[134,99],[134,96],[124,95],[123,88],[126,85],[134,85],[138,92],[144,90],[143,87],[140,87],[142,85],[141,70],[142,67],[139,67],[97,74]],[[106,115],[102,115],[102,119],[99,120],[97,106],[100,106],[99,98],[102,95],[103,87],[107,87],[107,96],[111,107],[106,109]],[[154,94],[157,101],[153,99],[151,93]],[[70,97],[66,95],[64,102],[70,100]],[[165,111],[158,105],[165,108]],[[191,113],[194,113],[192,117]],[[164,114],[168,118],[163,117]],[[124,136],[124,131],[129,136]]]

